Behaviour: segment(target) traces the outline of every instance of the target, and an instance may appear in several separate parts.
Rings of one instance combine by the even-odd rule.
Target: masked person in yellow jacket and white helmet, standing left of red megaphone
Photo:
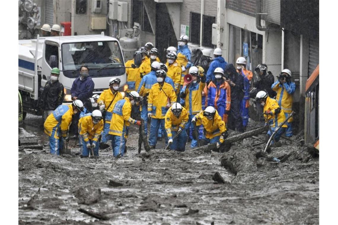
[[[176,96],[178,96],[181,84],[182,68],[176,59],[177,59],[176,52],[167,53],[167,63],[166,63],[168,67],[167,76],[174,81]]]

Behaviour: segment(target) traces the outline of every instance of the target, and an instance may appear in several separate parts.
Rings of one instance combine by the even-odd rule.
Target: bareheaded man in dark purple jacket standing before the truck
[[[89,101],[89,98],[93,95],[94,81],[89,77],[89,69],[86,65],[80,67],[80,76],[73,82],[70,93],[72,100],[81,100],[84,103]],[[74,135],[78,135],[77,124],[79,122],[80,112],[73,116],[72,126],[74,129]]]

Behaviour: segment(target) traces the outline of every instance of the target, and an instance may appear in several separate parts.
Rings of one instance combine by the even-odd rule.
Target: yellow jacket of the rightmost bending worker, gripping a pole
[[[278,105],[277,100],[272,99],[270,97],[266,98],[266,102],[263,108],[263,111],[271,111],[272,115],[265,115],[264,117],[267,118],[270,126],[272,127],[277,127],[279,126],[281,123],[283,123],[286,119],[285,114],[284,114],[284,110],[281,109],[281,111],[276,115],[276,109],[281,108]],[[285,123],[282,127],[288,127],[288,125]]]

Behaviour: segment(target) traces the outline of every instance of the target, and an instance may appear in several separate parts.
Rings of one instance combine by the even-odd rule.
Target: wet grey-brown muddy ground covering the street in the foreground
[[[27,114],[24,128],[40,144],[48,141],[41,117]],[[319,153],[300,137],[281,139],[266,155],[257,154],[264,148],[253,146],[257,138],[224,153],[173,152],[159,143],[138,154],[133,127],[127,154],[117,160],[111,148],[97,161],[80,159],[75,140],[72,156],[51,156],[48,146],[23,149],[19,224],[318,224]],[[224,184],[213,180],[215,172]]]

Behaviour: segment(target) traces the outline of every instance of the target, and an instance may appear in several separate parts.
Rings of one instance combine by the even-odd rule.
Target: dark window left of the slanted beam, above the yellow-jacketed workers
[[[147,10],[143,1],[131,1],[131,22],[132,26],[134,26],[134,23],[139,23],[143,31],[152,32]]]

